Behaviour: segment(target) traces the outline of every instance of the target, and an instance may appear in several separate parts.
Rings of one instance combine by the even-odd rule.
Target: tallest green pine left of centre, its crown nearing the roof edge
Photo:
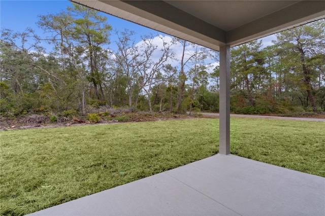
[[[104,62],[108,60],[104,46],[110,44],[109,36],[112,27],[106,23],[107,17],[99,15],[96,10],[75,3],[73,8],[69,7],[68,10],[74,18],[71,34],[78,43],[76,50],[80,55],[86,54],[85,58],[88,60],[87,79],[92,82],[96,97],[104,99],[102,86],[106,69]],[[101,96],[98,86],[101,89]]]

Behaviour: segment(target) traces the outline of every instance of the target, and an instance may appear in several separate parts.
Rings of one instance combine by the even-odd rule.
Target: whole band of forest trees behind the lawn
[[[98,11],[76,4],[40,15],[38,26],[52,36],[30,28],[1,32],[4,117],[85,115],[100,107],[219,111],[216,51],[161,35],[143,35],[136,43],[135,32],[113,31]],[[111,34],[118,39],[111,42]],[[45,52],[45,42],[53,50]],[[277,33],[273,44],[263,48],[257,40],[231,49],[231,112],[325,112],[325,20]]]

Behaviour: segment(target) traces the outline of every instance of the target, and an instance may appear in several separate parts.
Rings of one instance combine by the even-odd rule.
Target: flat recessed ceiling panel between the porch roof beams
[[[272,14],[299,1],[165,1],[225,31]],[[226,18],[226,19],[225,19]]]

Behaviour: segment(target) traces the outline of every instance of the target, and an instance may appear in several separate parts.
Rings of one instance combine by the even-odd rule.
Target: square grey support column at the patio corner
[[[220,47],[219,153],[230,154],[230,46]]]

